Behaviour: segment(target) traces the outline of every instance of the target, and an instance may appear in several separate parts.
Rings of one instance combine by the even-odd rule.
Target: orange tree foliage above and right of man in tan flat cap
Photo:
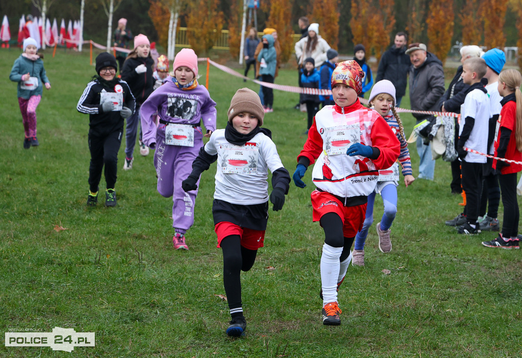
[[[437,0],[430,4],[428,11],[428,50],[444,64],[453,37],[453,0]]]

